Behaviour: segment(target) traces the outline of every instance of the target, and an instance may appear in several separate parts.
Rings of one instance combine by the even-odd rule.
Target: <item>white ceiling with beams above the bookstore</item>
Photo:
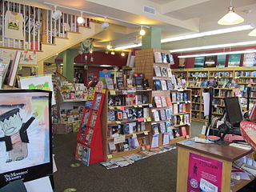
[[[30,2],[42,3],[41,0],[30,0]],[[162,38],[229,27],[219,26],[217,22],[219,18],[226,14],[228,6],[230,6],[230,0],[45,0],[45,2],[119,18],[138,25],[160,27]],[[256,20],[254,19],[256,18],[256,0],[234,0],[233,4],[236,12],[242,15],[243,18],[247,18],[246,22],[253,23],[256,26]],[[144,13],[143,6],[154,7],[156,14]],[[252,10],[252,13],[246,14],[245,10]],[[92,15],[89,16],[93,17]],[[103,18],[93,18],[103,21]],[[139,26],[110,19],[108,19],[108,22],[110,22],[111,27],[93,37],[99,39],[99,42],[95,44],[96,46],[105,47],[110,41],[114,46],[126,46],[134,43]],[[256,38],[247,36],[249,32],[250,30],[169,42],[162,44],[162,49],[172,50],[198,45],[255,41]]]

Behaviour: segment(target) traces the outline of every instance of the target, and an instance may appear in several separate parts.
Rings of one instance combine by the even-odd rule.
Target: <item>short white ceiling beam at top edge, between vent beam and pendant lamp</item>
[[[202,2],[209,2],[210,0],[175,0],[173,2],[167,2],[160,8],[161,14],[168,14],[175,10],[182,10],[186,7],[196,6]]]

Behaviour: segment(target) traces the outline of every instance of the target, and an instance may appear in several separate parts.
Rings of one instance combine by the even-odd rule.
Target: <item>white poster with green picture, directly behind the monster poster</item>
[[[19,78],[20,88],[24,90],[50,90],[53,92],[52,105],[56,104],[54,97],[54,86],[52,82],[52,75],[35,75]]]

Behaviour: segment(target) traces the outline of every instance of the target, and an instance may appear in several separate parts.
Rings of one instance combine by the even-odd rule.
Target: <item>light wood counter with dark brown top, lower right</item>
[[[242,149],[239,149],[239,148],[236,148],[233,146],[219,146],[217,144],[204,144],[204,143],[189,144],[189,143],[185,143],[185,142],[178,142],[177,146],[178,146],[178,167],[177,167],[178,170],[177,170],[177,190],[176,190],[177,192],[199,191],[199,189],[198,189],[199,183],[195,179],[194,179],[195,184],[192,182],[192,184],[190,184],[190,185],[193,186],[193,184],[194,184],[194,186],[198,186],[198,188],[196,190],[188,190],[189,175],[195,174],[195,177],[199,177],[197,172],[200,168],[202,168],[202,167],[199,167],[201,165],[198,165],[198,164],[192,162],[191,157],[194,157],[194,156],[200,157],[202,159],[204,159],[204,158],[208,159],[208,160],[210,159],[210,161],[218,162],[221,165],[220,169],[218,169],[219,171],[222,171],[222,172],[220,172],[221,177],[216,177],[216,179],[215,179],[215,180],[218,180],[218,178],[222,178],[222,179],[220,179],[221,184],[218,188],[218,191],[234,192],[234,191],[241,189],[243,186],[246,186],[246,184],[248,184],[249,182],[251,182],[254,179],[253,176],[250,177],[251,180],[242,180],[242,179],[234,180],[234,179],[232,179],[232,181],[235,183],[235,185],[230,186],[232,162],[234,162],[238,158],[242,158],[243,156],[245,156],[247,154],[251,154],[253,152],[253,150],[242,150]],[[194,159],[197,160],[199,158],[194,158]],[[208,161],[208,162],[210,162],[210,161]],[[204,160],[202,160],[202,162],[204,162]],[[193,165],[192,166],[190,165],[192,163],[194,163],[193,165],[195,168],[193,167]],[[191,167],[193,169],[191,169]],[[189,173],[189,170],[190,170],[190,173]],[[191,173],[191,170],[194,170],[194,173]],[[202,171],[202,173],[204,175],[207,174],[207,173],[204,173],[204,171]],[[200,172],[200,174],[201,174],[201,172]],[[211,177],[213,177],[213,175],[211,175]],[[193,179],[190,179],[190,181],[191,180],[193,180]],[[202,179],[202,180],[204,180],[204,179]],[[204,181],[206,181],[206,180],[204,180]],[[206,187],[207,187],[207,185],[208,184],[206,182]],[[220,188],[222,190],[220,190]]]

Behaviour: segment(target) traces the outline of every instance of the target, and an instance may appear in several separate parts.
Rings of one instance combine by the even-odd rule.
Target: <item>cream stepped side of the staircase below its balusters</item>
[[[42,51],[38,52],[38,74],[43,74],[43,62],[64,50],[98,34],[102,31],[101,24],[90,22],[90,27],[78,26],[79,32],[67,31],[66,38],[54,37],[54,43],[42,42]]]

